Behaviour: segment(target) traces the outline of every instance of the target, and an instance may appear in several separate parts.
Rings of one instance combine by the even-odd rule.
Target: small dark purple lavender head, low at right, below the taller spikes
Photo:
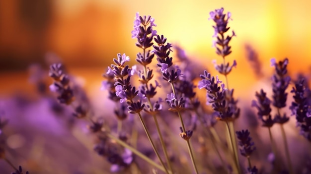
[[[252,154],[252,152],[256,149],[254,147],[254,142],[251,142],[249,131],[246,129],[246,130],[236,131],[235,133],[236,133],[237,139],[239,140],[238,145],[239,145],[241,155],[248,158]]]

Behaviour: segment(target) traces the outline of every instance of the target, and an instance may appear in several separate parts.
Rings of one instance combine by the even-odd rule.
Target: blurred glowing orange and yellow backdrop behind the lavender
[[[237,68],[230,74],[229,83],[239,98],[254,96],[254,90],[261,88],[258,84],[264,85],[265,82],[256,81],[255,75],[250,73],[253,70],[247,62],[245,45],[251,45],[258,53],[265,75],[271,75],[273,70],[270,58],[288,57],[291,75],[309,72],[310,6],[309,0],[295,0],[294,3],[292,0],[0,0],[0,98],[5,102],[0,107],[19,106],[12,101],[10,103],[8,97],[20,97],[36,91],[29,83],[28,66],[34,62],[46,66],[46,57],[51,54],[60,57],[71,74],[80,77],[80,84],[90,98],[95,98],[96,104],[103,107],[105,100],[101,97],[105,94],[99,90],[101,74],[117,53],[126,53],[134,59],[139,51],[135,46],[136,40],[131,38],[136,12],[154,17],[158,34],[184,48],[194,62],[216,72],[213,71],[212,60],[219,62],[221,59],[212,48],[213,22],[208,18],[210,11],[220,7],[232,13],[233,20],[229,25],[237,35],[231,41],[233,53],[228,57],[228,61],[236,59]],[[41,105],[44,110],[44,104]],[[18,111],[14,112],[17,114],[7,115],[18,115]],[[29,115],[33,112],[40,114],[36,107],[28,112]],[[39,118],[32,117],[35,122]],[[26,118],[19,119],[26,121]],[[36,124],[41,124],[40,119],[38,122]],[[22,127],[18,121],[12,123]],[[25,130],[20,128],[18,131]],[[55,131],[53,136],[62,135]],[[31,138],[19,136],[17,133],[13,138],[23,142]],[[48,144],[38,137],[31,141],[39,145],[31,146],[32,149],[23,147],[26,151],[38,151],[42,144]],[[68,142],[75,143],[75,140]],[[72,147],[70,143],[68,146]],[[21,156],[26,158],[27,155]],[[76,159],[85,156],[87,154],[82,153]],[[99,157],[88,158],[96,161]],[[32,159],[40,157],[33,156]],[[70,164],[74,166],[77,163],[72,161]],[[27,166],[36,169],[35,164],[30,162]],[[7,167],[0,162],[0,169],[3,166]],[[55,169],[53,164],[50,167]]]

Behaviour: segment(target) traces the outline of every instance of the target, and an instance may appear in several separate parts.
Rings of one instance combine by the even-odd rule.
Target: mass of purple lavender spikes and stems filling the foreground
[[[256,77],[270,79],[271,88],[257,91],[251,104],[242,106],[229,85],[230,74],[237,67],[236,60],[230,57],[234,50],[230,41],[236,36],[229,27],[231,16],[224,8],[210,12],[215,31],[213,46],[222,59],[220,64],[214,61],[218,73],[213,74],[208,70],[198,71],[204,67],[191,64],[182,48],[158,34],[153,17],[137,13],[132,38],[140,52],[132,59],[126,54],[116,55],[103,74],[102,91],[107,92],[110,103],[102,106],[111,110],[108,114],[97,114],[77,79],[59,60],[50,65],[48,73],[36,66],[31,79],[37,86],[39,101],[46,103],[43,113],[52,113],[54,128],[63,127],[57,129],[66,130],[70,134],[67,136],[75,137],[79,143],[68,144],[67,150],[75,153],[66,154],[67,170],[59,169],[62,166],[42,169],[44,166],[33,167],[23,162],[23,168],[29,169],[29,173],[23,173],[22,167],[16,168],[16,162],[22,162],[19,156],[26,155],[6,143],[13,134],[6,129],[12,113],[2,112],[0,158],[11,167],[11,174],[310,174],[308,78],[303,74],[290,77],[288,58],[272,58],[274,74],[265,77],[258,55],[247,45],[247,59]],[[48,92],[46,76],[42,74],[53,79],[49,85],[53,95]],[[206,97],[198,93],[205,93]],[[28,111],[23,107],[30,108],[33,103],[20,98],[14,101],[24,102],[11,105],[22,111]],[[290,127],[290,122],[295,120],[297,126]],[[85,124],[87,130],[83,128]],[[75,134],[77,131],[87,136],[81,140]],[[60,143],[58,138],[50,137],[49,144]],[[86,148],[76,147],[84,141],[88,144]],[[70,138],[69,142],[72,142]],[[89,146],[93,147],[90,151]],[[303,148],[303,152],[297,152],[296,147]],[[94,160],[88,157],[89,153],[101,158]],[[45,155],[57,160],[53,153]],[[98,162],[96,170],[87,165],[71,166],[90,159]]]

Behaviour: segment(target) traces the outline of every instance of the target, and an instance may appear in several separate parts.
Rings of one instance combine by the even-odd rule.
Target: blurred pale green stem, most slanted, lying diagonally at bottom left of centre
[[[136,154],[137,156],[139,156],[140,158],[142,158],[143,160],[145,160],[147,163],[149,163],[150,165],[154,166],[155,168],[157,168],[158,170],[161,170],[163,172],[166,172],[167,174],[171,174],[168,173],[167,170],[165,168],[163,168],[162,166],[156,164],[153,160],[151,160],[150,158],[148,158],[147,156],[145,156],[144,154],[142,154],[141,152],[139,152],[137,149],[131,147],[130,145],[126,144],[124,141],[120,140],[119,138],[111,135],[110,133],[106,133],[106,135],[115,140],[118,144],[120,144],[121,146],[129,149],[130,151],[132,151],[134,154]]]

